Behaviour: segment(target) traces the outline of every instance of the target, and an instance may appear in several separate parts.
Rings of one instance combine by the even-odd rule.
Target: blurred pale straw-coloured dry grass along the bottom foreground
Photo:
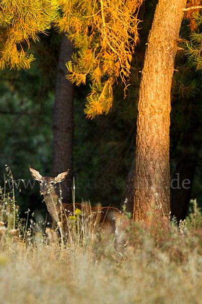
[[[200,303],[202,258],[190,248],[185,260],[154,247],[129,247],[119,259],[58,244],[27,248],[8,240],[0,253],[1,303]],[[5,242],[5,240],[4,240]],[[185,248],[184,248],[185,249]]]

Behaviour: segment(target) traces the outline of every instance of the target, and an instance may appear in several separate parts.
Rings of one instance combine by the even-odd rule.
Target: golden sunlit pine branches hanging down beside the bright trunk
[[[57,28],[67,31],[77,51],[67,63],[67,78],[77,86],[90,81],[84,112],[88,118],[112,108],[113,85],[128,86],[130,62],[138,43],[138,12],[142,0],[61,1]]]

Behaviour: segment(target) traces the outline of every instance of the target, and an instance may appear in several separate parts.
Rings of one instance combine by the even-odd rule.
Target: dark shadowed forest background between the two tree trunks
[[[119,208],[134,155],[135,115],[128,118],[123,95],[117,93],[109,115],[86,120],[82,102],[86,89],[77,88],[74,99],[76,200],[90,199],[93,206],[100,202],[103,206]],[[133,99],[126,99],[126,109],[129,106],[133,106],[134,113]]]

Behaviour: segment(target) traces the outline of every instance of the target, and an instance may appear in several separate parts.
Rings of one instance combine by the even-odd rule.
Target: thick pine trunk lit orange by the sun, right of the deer
[[[186,0],[159,0],[148,36],[139,90],[134,219],[170,212],[170,94]]]

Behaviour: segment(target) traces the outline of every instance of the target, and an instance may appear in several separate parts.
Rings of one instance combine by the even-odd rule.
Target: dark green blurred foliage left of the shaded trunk
[[[49,86],[53,80],[45,78],[42,69],[45,62],[43,59],[40,64],[40,60],[36,60],[28,71],[4,70],[0,73],[0,128],[4,130],[0,133],[0,182],[3,186],[5,164],[8,164],[17,185],[19,182],[16,198],[21,216],[28,207],[32,212],[44,208],[38,198],[37,183],[31,189],[30,185],[25,188],[23,181],[19,181],[24,179],[25,184],[28,183],[28,165],[31,163],[39,169],[45,167],[44,173],[51,172],[54,92],[46,88],[46,82]],[[55,75],[55,68],[51,67],[53,71],[47,73],[48,77]]]

